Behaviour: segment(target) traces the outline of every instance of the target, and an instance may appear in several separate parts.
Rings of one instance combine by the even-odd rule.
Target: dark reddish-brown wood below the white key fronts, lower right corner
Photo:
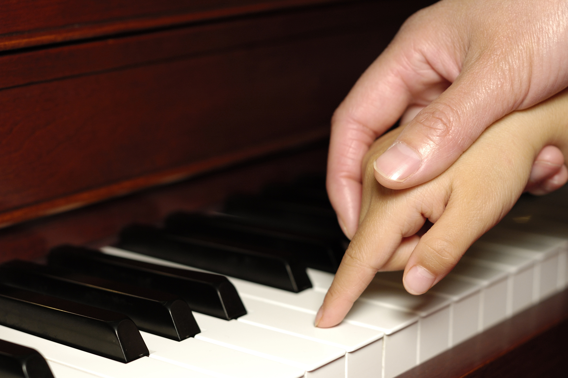
[[[568,289],[397,378],[565,377]]]

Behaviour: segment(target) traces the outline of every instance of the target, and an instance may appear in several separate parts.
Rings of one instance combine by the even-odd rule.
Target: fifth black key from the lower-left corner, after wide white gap
[[[151,226],[126,227],[120,232],[118,246],[295,293],[312,286],[306,265],[294,256],[269,255],[213,241],[166,234]]]

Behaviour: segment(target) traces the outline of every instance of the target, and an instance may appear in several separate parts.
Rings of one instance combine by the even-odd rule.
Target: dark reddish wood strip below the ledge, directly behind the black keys
[[[231,193],[254,193],[267,182],[289,182],[302,173],[323,173],[326,160],[324,140],[294,152],[7,227],[0,230],[0,262],[37,259],[62,243],[102,246],[113,242],[130,223],[159,224],[173,211],[214,209]]]

